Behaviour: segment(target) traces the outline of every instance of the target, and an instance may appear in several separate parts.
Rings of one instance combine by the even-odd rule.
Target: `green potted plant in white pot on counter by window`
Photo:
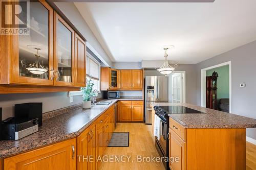
[[[82,108],[90,109],[92,104],[92,97],[96,96],[93,91],[94,84],[91,82],[91,78],[87,81],[86,87],[82,87]]]

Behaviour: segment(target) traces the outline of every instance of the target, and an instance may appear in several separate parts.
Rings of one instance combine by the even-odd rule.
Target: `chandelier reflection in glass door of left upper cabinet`
[[[35,54],[36,61],[33,64],[26,64],[23,60],[21,61],[21,64],[23,67],[25,67],[29,72],[31,72],[34,75],[42,75],[45,74],[48,71],[48,67],[44,67],[39,62],[39,53],[38,51],[41,50],[40,48],[35,48],[37,50],[37,53]]]

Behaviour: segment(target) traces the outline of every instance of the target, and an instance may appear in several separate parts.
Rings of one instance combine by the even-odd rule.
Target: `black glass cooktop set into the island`
[[[159,106],[159,107],[164,111],[166,111],[167,113],[172,113],[172,114],[204,113],[204,112],[190,109],[184,106]]]

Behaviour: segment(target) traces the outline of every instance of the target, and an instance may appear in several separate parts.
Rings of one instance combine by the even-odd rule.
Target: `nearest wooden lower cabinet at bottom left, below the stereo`
[[[76,138],[4,159],[5,170],[76,169]]]

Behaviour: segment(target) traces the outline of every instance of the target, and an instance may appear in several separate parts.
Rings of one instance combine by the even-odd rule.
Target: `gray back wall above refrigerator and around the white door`
[[[145,60],[144,60],[145,61]],[[146,63],[146,64],[145,64]],[[163,60],[153,60],[152,62],[146,61],[142,63],[144,67],[159,67]],[[195,64],[179,64],[175,71],[186,71],[186,103],[196,105],[197,100],[197,83],[196,83],[196,65]],[[163,76],[157,70],[144,70],[144,76]]]

